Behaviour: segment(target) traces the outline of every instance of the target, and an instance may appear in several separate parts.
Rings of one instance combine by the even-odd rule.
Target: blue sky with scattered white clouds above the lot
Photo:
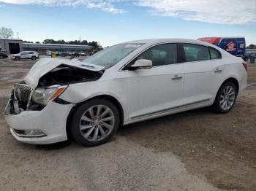
[[[256,44],[256,0],[0,0],[15,38],[97,41],[244,36]]]

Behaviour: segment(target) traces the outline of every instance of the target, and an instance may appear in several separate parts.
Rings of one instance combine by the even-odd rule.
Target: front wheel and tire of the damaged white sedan
[[[119,123],[120,114],[112,102],[94,99],[75,110],[70,131],[72,138],[78,144],[83,147],[93,147],[111,139]]]

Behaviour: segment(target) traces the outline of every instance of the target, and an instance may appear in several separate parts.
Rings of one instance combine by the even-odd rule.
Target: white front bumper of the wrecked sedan
[[[9,102],[10,104],[10,102]],[[74,104],[57,104],[50,101],[41,111],[22,111],[10,114],[7,105],[4,117],[12,136],[18,141],[29,144],[53,144],[67,140],[67,117]],[[23,136],[19,131],[37,130],[44,136]]]

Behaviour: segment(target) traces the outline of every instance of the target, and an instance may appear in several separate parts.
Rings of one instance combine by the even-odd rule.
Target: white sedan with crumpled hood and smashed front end
[[[205,106],[230,112],[246,70],[241,58],[206,42],[125,42],[84,61],[42,58],[14,86],[4,116],[18,141],[72,137],[95,146],[121,125]]]

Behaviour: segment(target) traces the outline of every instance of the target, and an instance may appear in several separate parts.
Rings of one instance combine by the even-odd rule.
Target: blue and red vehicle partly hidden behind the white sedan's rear
[[[245,59],[246,44],[244,37],[203,37],[198,40],[214,44],[231,55]]]

